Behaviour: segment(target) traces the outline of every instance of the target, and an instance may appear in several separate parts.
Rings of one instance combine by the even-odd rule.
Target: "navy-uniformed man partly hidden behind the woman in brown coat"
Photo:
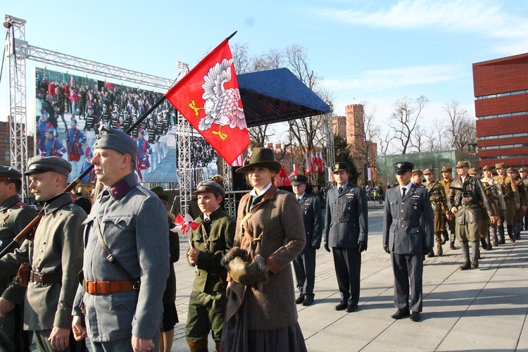
[[[304,175],[292,175],[291,187],[303,212],[304,231],[306,244],[304,249],[294,259],[295,277],[299,295],[295,302],[310,306],[313,303],[313,287],[315,285],[315,251],[321,246],[322,236],[322,211],[318,197],[306,194]]]

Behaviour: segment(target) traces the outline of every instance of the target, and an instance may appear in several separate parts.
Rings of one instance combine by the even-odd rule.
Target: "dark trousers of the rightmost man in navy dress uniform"
[[[394,272],[394,306],[398,309],[410,308],[413,312],[421,312],[423,255],[391,252],[391,260]]]

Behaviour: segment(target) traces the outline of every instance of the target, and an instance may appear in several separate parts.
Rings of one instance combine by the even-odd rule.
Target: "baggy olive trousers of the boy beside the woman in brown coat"
[[[206,294],[193,290],[189,297],[189,312],[185,326],[187,341],[200,341],[207,338],[209,332],[211,332],[214,341],[220,341],[224,328],[226,305],[225,291]]]

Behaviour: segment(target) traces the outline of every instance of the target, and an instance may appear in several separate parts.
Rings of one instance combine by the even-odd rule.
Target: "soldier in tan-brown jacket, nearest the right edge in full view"
[[[508,237],[510,241],[515,242],[515,235],[513,233],[513,218],[515,216],[515,210],[520,208],[519,192],[517,191],[517,184],[513,182],[512,178],[506,175],[506,168],[504,163],[495,164],[495,170],[497,175],[494,177],[498,183],[501,184],[503,191],[504,201],[506,203],[506,213],[504,218],[501,218],[502,222],[498,225],[498,244],[504,244],[504,222],[506,222],[506,229],[508,230]]]

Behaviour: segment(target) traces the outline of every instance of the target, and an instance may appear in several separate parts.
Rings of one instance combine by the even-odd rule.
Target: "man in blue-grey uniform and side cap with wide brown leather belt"
[[[169,275],[169,228],[161,200],[136,180],[136,156],[132,138],[101,127],[92,164],[104,190],[84,222],[85,288],[77,289],[73,307],[75,339],[89,336],[94,351],[150,351],[158,346]]]

